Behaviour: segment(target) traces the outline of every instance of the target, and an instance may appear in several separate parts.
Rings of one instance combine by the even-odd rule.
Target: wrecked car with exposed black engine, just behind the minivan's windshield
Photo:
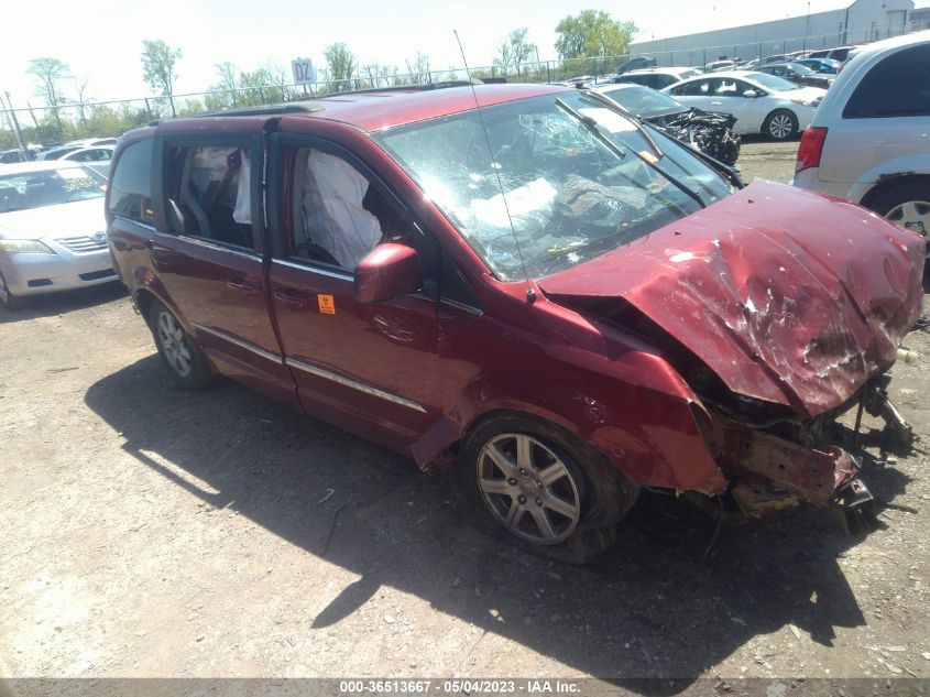
[[[593,89],[610,97],[630,113],[724,164],[733,165],[740,156],[740,137],[733,132],[736,118],[729,113],[692,109],[668,95],[633,83]]]

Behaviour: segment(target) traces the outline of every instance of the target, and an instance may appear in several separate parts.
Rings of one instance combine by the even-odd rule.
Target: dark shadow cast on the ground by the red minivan
[[[359,574],[314,627],[338,622],[390,586],[579,671],[675,693],[788,623],[824,645],[838,628],[864,624],[836,563],[855,541],[820,511],[723,529],[701,564],[712,524],[653,494],[593,566],[554,566],[469,527],[445,476],[424,476],[412,460],[230,382],[204,393],[174,389],[155,356],[103,378],[86,402],[140,466]],[[906,484],[890,468],[869,481],[885,501]],[[634,679],[644,677],[683,682]]]

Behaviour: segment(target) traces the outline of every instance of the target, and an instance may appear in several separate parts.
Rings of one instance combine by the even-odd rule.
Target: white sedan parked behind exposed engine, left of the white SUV
[[[736,133],[762,133],[773,140],[789,140],[810,126],[827,94],[819,87],[799,87],[774,75],[747,70],[699,75],[663,91],[689,107],[733,115]]]

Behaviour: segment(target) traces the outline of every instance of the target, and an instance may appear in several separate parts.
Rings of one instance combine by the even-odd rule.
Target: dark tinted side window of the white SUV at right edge
[[[889,55],[862,78],[844,119],[930,116],[930,44]]]

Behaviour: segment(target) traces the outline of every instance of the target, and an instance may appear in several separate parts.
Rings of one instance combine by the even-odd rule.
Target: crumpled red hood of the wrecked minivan
[[[734,392],[812,416],[895,360],[923,250],[858,206],[756,181],[539,286],[554,302],[622,297]]]

